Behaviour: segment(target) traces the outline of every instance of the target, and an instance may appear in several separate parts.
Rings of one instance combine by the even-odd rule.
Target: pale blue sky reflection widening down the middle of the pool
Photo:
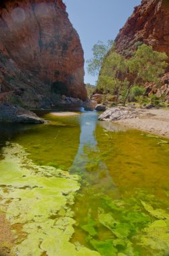
[[[97,188],[101,186],[112,189],[114,187],[113,179],[109,176],[103,156],[97,147],[95,137],[97,118],[98,115],[95,111],[80,115],[80,143],[70,171],[86,177],[88,182],[91,185],[95,184]]]

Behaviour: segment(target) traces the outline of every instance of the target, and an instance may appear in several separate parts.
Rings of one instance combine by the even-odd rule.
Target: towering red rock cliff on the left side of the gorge
[[[82,46],[62,0],[1,1],[0,90],[31,107],[57,94],[87,99]]]

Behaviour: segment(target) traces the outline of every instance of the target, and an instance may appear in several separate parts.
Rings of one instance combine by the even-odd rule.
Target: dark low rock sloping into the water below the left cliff
[[[46,123],[30,110],[14,106],[9,102],[0,103],[0,123]]]

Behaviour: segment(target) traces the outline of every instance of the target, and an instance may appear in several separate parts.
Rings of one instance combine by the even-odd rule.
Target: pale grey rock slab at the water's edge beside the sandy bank
[[[139,117],[139,110],[135,108],[127,108],[119,106],[117,108],[109,108],[99,116],[100,121],[118,121],[121,119],[132,119]]]

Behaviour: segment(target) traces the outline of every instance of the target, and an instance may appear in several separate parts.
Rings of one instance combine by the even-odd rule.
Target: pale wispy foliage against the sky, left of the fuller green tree
[[[108,40],[107,44],[104,44],[101,41],[98,41],[97,44],[94,44],[92,49],[93,58],[87,61],[87,71],[90,75],[99,75],[103,60],[105,59],[108,51],[111,49],[113,44],[113,40]]]

